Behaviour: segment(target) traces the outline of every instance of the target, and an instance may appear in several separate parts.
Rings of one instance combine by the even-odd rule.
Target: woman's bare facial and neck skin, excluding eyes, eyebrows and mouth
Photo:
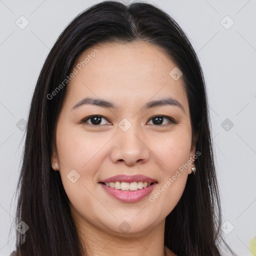
[[[169,72],[175,64],[161,48],[145,42],[100,44],[83,52],[75,65],[95,48],[98,53],[66,85],[52,167],[60,172],[88,255],[162,256],[165,217],[180,199],[193,165],[184,168],[154,202],[149,196],[195,154],[182,76],[174,80]],[[88,96],[118,107],[82,105],[71,110]],[[175,105],[142,109],[148,101],[167,96],[184,111]],[[104,116],[100,124],[93,126],[92,119],[82,122],[93,114]],[[177,123],[164,118],[157,124],[155,115],[170,116]],[[123,118],[131,124],[126,131],[118,127]],[[80,175],[74,183],[67,178],[72,169]],[[117,174],[143,174],[158,183],[142,200],[121,202],[98,183]],[[118,228],[123,221],[129,225],[127,233]],[[167,248],[166,253],[175,255]]]

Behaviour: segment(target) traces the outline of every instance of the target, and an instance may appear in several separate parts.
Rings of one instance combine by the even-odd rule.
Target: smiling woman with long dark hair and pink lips
[[[185,33],[147,3],[93,5],[38,77],[14,254],[216,256],[220,224],[203,75]]]

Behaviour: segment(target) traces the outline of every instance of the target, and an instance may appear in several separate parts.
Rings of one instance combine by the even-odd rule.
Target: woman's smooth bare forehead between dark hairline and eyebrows
[[[98,44],[86,49],[73,68],[77,74],[69,81],[66,93],[76,100],[93,96],[117,105],[138,104],[138,100],[146,102],[169,95],[188,108],[182,76],[172,78],[169,73],[175,68],[174,62],[155,45]]]

